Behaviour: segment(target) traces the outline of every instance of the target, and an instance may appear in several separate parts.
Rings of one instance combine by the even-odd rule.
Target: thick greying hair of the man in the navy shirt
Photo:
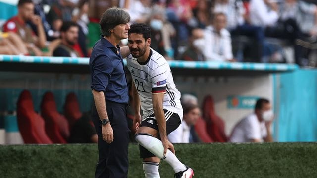
[[[130,22],[130,15],[123,9],[112,7],[108,8],[100,19],[100,31],[101,33],[109,37],[111,35],[110,30],[120,24],[126,24]]]

